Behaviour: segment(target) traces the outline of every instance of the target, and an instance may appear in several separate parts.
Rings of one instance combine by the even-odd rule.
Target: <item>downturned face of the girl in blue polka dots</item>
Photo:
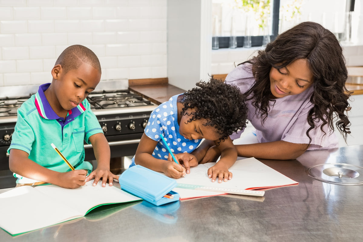
[[[187,111],[189,112],[189,111]],[[181,116],[179,123],[179,133],[185,139],[206,139],[206,140],[219,140],[221,135],[217,132],[215,127],[204,126],[207,123],[206,119],[197,119],[187,123],[191,118],[190,115]]]

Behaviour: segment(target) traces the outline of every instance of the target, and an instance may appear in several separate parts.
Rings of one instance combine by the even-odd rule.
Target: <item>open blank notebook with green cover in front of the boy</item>
[[[83,217],[101,205],[142,200],[102,181],[76,189],[56,185],[21,186],[0,194],[0,227],[18,235]]]

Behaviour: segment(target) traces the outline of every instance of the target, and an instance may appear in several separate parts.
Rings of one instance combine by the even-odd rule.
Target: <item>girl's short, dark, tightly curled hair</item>
[[[221,80],[210,78],[209,82],[200,81],[197,87],[184,93],[181,101],[181,115],[187,115],[189,108],[195,112],[187,122],[206,119],[204,125],[215,127],[221,135],[220,140],[227,139],[233,132],[246,127],[247,106],[245,96],[236,87]]]

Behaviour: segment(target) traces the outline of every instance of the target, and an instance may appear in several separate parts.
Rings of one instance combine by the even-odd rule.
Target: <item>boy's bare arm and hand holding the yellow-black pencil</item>
[[[9,168],[12,172],[30,179],[52,183],[64,188],[77,188],[85,184],[87,171],[57,172],[42,167],[28,158],[20,149],[10,149]]]

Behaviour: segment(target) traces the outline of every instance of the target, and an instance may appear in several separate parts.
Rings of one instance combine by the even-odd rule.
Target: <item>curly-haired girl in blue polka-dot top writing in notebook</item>
[[[220,161],[208,169],[208,177],[213,182],[217,176],[219,182],[232,179],[228,168],[236,161],[237,151],[229,135],[246,127],[244,95],[236,86],[213,77],[196,85],[184,94],[171,97],[151,113],[130,166],[139,164],[180,178],[203,158],[204,154],[194,155],[193,151],[205,139],[221,153]],[[185,168],[171,159],[160,134]]]

